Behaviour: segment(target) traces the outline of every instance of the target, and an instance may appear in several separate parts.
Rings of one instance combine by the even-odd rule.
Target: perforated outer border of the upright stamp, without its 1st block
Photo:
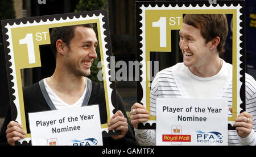
[[[150,113],[150,80],[147,78],[146,66],[146,36],[145,36],[145,19],[146,10],[236,10],[236,59],[233,59],[236,66],[233,66],[233,109],[237,112],[229,117],[228,129],[234,130],[234,119],[238,114],[245,111],[245,1],[217,1],[217,4],[210,4],[208,1],[179,1],[179,2],[136,2],[136,31],[137,31],[137,60],[142,65],[139,71],[139,81],[137,82],[137,102],[143,104]],[[220,12],[221,13],[221,12]],[[184,13],[186,14],[186,13]],[[200,13],[201,14],[201,13]],[[215,13],[218,14],[218,13]],[[234,21],[233,21],[234,22]],[[234,36],[234,35],[233,35]],[[234,83],[235,82],[235,83]],[[234,88],[234,85],[235,88]],[[236,90],[234,90],[236,89]],[[149,94],[148,94],[149,92]],[[149,95],[149,96],[148,96]],[[156,117],[150,116],[147,122],[139,123],[139,129],[156,129]]]

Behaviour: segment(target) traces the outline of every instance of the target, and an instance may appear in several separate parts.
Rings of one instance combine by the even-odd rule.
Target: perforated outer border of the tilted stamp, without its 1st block
[[[20,69],[16,69],[15,67],[16,59],[14,55],[12,29],[30,26],[48,27],[49,24],[56,24],[56,27],[60,27],[63,25],[74,25],[72,24],[74,22],[95,23],[95,21],[97,21],[98,28],[108,122],[110,121],[110,117],[112,117],[114,113],[118,110],[118,105],[115,90],[115,82],[110,80],[110,56],[112,56],[112,47],[110,42],[108,14],[106,10],[1,20],[4,41],[3,44],[5,47],[7,80],[10,91],[11,113],[12,119],[14,121],[17,121],[21,123],[23,126],[26,126],[24,105],[23,102],[21,102],[23,100],[23,94],[22,92],[18,92],[22,91],[22,84],[20,84],[20,76],[16,75],[17,72],[20,71]],[[102,124],[101,128],[103,137],[116,134],[114,133],[114,131],[108,130],[108,123]],[[31,134],[27,134],[26,138],[20,140],[18,143],[15,144],[31,145]]]

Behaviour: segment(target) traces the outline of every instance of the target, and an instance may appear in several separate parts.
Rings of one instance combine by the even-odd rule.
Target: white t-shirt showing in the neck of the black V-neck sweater
[[[53,90],[47,84],[46,79],[44,79],[44,85],[46,86],[46,91],[47,91],[49,97],[51,98],[52,103],[55,105],[55,108],[57,110],[65,109],[65,108],[76,108],[76,107],[81,107],[82,106],[82,102],[84,101],[84,97],[85,97],[85,93],[86,93],[86,86],[85,86],[84,93],[79,98],[79,100],[77,100],[77,102],[75,102],[74,104],[69,105],[69,104],[65,103],[63,100],[61,100],[60,97],[58,97],[55,92],[53,92]]]

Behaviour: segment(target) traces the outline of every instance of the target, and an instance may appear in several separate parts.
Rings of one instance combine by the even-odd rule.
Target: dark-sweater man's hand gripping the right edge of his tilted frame
[[[118,110],[109,122],[109,130],[121,131],[121,135],[112,136],[113,139],[120,139],[125,136],[128,131],[127,119],[122,111]]]

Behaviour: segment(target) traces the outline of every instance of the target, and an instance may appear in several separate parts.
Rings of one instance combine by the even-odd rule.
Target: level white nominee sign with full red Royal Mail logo
[[[156,145],[228,145],[226,100],[157,98]]]

